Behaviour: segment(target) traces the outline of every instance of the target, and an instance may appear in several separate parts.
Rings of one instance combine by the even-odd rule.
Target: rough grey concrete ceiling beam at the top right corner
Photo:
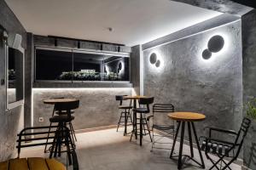
[[[239,0],[171,0],[179,3],[187,3],[196,7],[207,8],[221,13],[235,14],[242,16],[247,14],[253,8],[247,7],[241,3],[236,3]],[[241,0],[241,2],[245,0]],[[254,1],[254,0],[252,0]]]

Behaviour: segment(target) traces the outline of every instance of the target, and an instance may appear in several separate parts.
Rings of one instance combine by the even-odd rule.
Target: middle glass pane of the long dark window
[[[73,80],[101,81],[104,56],[101,54],[73,54]]]

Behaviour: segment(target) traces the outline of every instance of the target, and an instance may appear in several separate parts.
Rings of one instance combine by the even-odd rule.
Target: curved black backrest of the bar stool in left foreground
[[[66,111],[67,116],[71,116],[71,110],[79,108],[79,99],[63,103],[55,103],[55,111]]]

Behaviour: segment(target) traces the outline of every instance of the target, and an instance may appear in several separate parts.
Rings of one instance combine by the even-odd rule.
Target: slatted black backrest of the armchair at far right
[[[241,146],[243,144],[243,141],[247,135],[247,132],[248,132],[248,129],[251,125],[251,120],[244,117],[242,119],[242,122],[241,122],[241,127],[237,133],[237,136],[236,136],[236,141],[235,141],[235,144],[236,146],[238,145],[238,148],[237,148],[237,151],[236,151],[236,157],[238,157],[239,153],[240,153],[240,150],[241,150]]]

